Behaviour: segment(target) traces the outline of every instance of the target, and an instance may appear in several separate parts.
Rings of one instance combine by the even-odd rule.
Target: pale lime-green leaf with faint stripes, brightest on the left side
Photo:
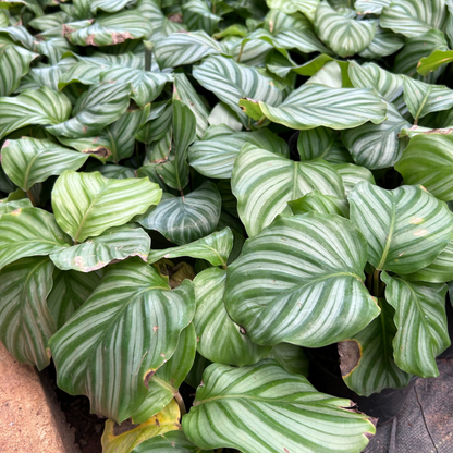
[[[52,208],[62,230],[83,242],[145,212],[161,193],[147,177],[109,180],[99,172],[66,170],[53,187]]]

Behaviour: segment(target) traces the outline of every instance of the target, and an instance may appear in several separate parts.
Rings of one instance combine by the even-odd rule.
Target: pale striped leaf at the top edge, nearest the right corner
[[[407,37],[432,28],[442,29],[446,20],[444,0],[397,0],[383,8],[381,27]]]

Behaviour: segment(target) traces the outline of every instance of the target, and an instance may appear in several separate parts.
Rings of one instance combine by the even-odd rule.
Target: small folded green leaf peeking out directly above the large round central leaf
[[[292,212],[296,216],[305,212],[336,213],[350,218],[350,205],[347,199],[322,195],[318,191],[313,191],[302,198],[287,201]]]

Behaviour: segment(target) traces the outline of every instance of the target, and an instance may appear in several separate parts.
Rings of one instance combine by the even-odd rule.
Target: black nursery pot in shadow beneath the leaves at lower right
[[[334,355],[336,346],[333,346],[334,352],[326,351],[331,346],[319,350],[306,350],[310,358],[308,379],[313,385],[320,392],[352,400],[357,404],[358,411],[378,418],[378,425],[392,420],[403,408],[418,377],[414,376],[407,387],[402,389],[383,389],[379,393],[360,396],[344,383],[340,374],[339,359],[335,359]]]

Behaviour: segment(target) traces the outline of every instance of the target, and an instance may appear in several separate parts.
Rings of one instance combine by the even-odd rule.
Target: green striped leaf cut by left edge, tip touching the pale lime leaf
[[[19,208],[0,218],[0,269],[24,257],[65,248],[69,243],[51,213],[38,208]]]

